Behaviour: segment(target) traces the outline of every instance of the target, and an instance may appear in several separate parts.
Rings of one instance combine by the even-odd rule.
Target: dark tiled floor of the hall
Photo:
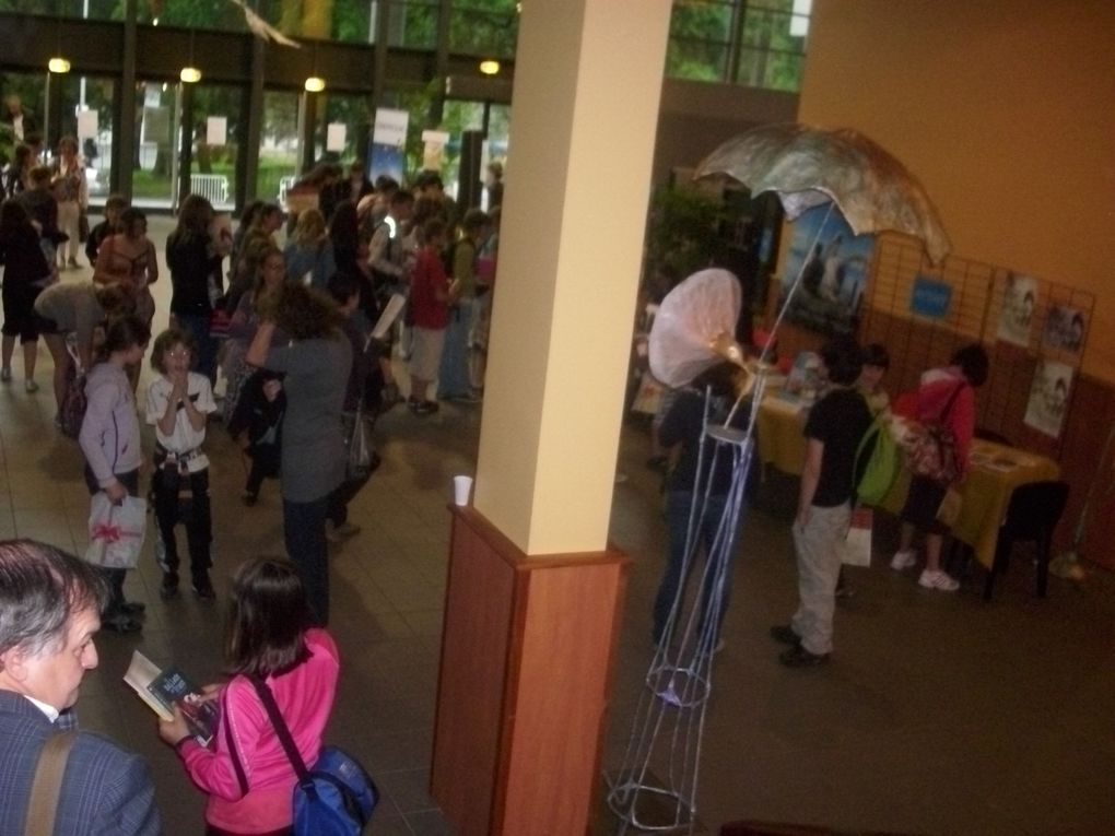
[[[161,245],[167,222],[156,218],[152,227]],[[161,311],[165,276],[156,285]],[[50,426],[49,362],[40,364],[43,388],[32,396],[22,390],[18,353],[13,367],[16,381],[0,385],[0,535],[81,550],[88,497],[77,445]],[[372,834],[452,833],[426,789],[445,503],[450,476],[472,470],[479,416],[479,407],[453,406],[423,419],[401,410],[386,416],[378,427],[384,465],[353,506],[363,531],[333,557],[331,629],[345,667],[329,737],[357,754],[384,790]],[[268,483],[260,504],[244,508],[236,498],[242,465],[220,426],[207,447],[215,577],[225,579],[248,555],[281,552],[277,486]],[[619,469],[628,478],[615,487],[611,534],[636,561],[605,768],[619,761],[650,661],[649,603],[663,526],[646,457],[644,432],[627,428]],[[975,572],[957,595],[931,593],[885,566],[893,532],[884,529],[876,565],[852,573],[857,594],[837,612],[832,663],[786,670],[767,629],[795,603],[793,500],[793,484],[774,478],[746,523],[701,759],[698,815],[709,830],[746,817],[932,834],[1115,832],[1113,579],[1093,573],[1079,587],[1051,579],[1049,599],[1039,601],[1032,568],[1019,556],[989,604],[979,599]],[[152,560],[130,573],[129,596],[148,606],[146,628],[98,639],[100,667],[87,678],[79,709],[85,727],[148,758],[166,832],[196,834],[202,796],[120,675],[140,648],[200,679],[216,678],[223,605],[188,595],[163,603],[157,586]]]

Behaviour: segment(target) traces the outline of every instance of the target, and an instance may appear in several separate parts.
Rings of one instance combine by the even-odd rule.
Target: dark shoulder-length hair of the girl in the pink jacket
[[[266,677],[306,658],[311,613],[306,587],[290,561],[253,557],[232,580],[224,654],[230,673]]]

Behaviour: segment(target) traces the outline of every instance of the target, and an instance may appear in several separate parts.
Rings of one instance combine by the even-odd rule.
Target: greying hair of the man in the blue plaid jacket
[[[65,641],[72,615],[107,601],[104,577],[85,561],[33,539],[0,541],[0,653],[38,655]]]

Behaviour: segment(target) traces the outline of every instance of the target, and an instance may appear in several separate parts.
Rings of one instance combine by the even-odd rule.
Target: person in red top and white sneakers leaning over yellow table
[[[968,470],[968,454],[976,431],[976,390],[987,381],[989,360],[983,347],[966,346],[952,356],[943,369],[930,369],[921,376],[915,398],[902,398],[894,411],[909,415],[923,424],[940,422],[956,439],[957,467],[960,478]],[[903,406],[906,401],[909,406]],[[960,584],[941,571],[941,543],[948,526],[937,518],[937,512],[949,486],[924,476],[910,479],[905,507],[902,508],[902,534],[899,551],[891,558],[891,568],[901,572],[918,562],[913,550],[915,531],[925,533],[925,568],[918,583],[928,590],[956,592]]]

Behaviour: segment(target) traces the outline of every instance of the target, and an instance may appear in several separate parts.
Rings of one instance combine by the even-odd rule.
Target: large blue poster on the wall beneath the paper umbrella
[[[835,206],[831,213],[827,206],[804,212],[793,229],[779,304],[785,301],[798,273],[802,286],[794,294],[786,319],[828,336],[852,333],[875,236],[853,233]]]

